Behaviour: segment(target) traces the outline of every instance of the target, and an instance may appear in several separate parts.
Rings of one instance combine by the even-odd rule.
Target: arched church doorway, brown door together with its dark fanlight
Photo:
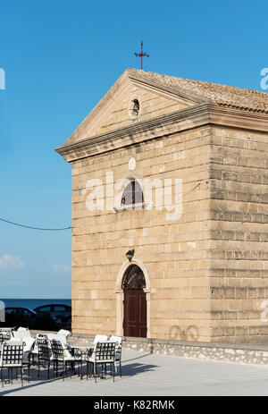
[[[124,336],[147,337],[146,280],[141,268],[130,265],[122,278],[123,334]]]

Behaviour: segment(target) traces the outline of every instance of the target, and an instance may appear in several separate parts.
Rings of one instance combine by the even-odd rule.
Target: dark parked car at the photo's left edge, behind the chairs
[[[59,325],[50,315],[38,315],[29,308],[5,308],[5,321],[0,326],[25,326],[29,329],[58,329]]]

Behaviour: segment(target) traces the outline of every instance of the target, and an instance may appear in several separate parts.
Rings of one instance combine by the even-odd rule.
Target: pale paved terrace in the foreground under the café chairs
[[[268,366],[242,365],[203,359],[182,359],[122,350],[122,377],[80,380],[78,376],[40,379],[32,368],[30,382],[21,380],[0,387],[0,395],[54,396],[172,396],[172,395],[268,395]],[[52,372],[51,372],[52,374]]]

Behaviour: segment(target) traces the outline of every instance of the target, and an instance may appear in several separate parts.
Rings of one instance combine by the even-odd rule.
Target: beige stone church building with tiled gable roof
[[[72,165],[72,332],[268,342],[268,94],[127,69]]]

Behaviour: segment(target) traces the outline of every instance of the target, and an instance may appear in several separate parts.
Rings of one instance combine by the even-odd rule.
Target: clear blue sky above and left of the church
[[[139,67],[141,40],[147,71],[260,89],[267,12],[267,1],[241,0],[2,2],[0,217],[71,225],[71,165],[54,148]],[[71,297],[71,231],[0,222],[0,234],[0,299]]]

